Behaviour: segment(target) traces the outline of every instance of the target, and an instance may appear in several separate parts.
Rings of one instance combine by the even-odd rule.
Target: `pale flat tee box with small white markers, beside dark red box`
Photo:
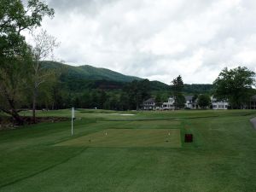
[[[180,148],[179,129],[107,129],[56,146]]]

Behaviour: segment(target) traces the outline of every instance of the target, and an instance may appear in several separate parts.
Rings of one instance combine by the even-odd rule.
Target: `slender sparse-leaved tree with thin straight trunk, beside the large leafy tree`
[[[38,34],[33,35],[34,46],[32,47],[32,118],[36,123],[36,108],[38,88],[49,79],[55,79],[55,72],[43,67],[42,61],[53,55],[53,50],[58,46],[56,38],[41,30]]]

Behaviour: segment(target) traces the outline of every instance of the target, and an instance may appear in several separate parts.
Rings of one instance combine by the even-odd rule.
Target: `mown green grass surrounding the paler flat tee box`
[[[175,128],[194,133],[195,142],[183,148],[53,146],[71,139],[70,122],[1,131],[0,191],[256,191],[256,131],[248,121],[255,111],[97,112],[77,113],[84,119],[75,122],[74,137],[164,118],[180,120]],[[40,115],[49,114],[69,115]],[[148,128],[148,121],[139,122],[145,124],[137,128]]]

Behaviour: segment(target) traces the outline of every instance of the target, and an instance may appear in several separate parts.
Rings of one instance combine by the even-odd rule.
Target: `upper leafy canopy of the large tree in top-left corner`
[[[0,57],[19,55],[26,47],[23,30],[41,26],[44,16],[52,17],[54,9],[39,0],[0,0]]]

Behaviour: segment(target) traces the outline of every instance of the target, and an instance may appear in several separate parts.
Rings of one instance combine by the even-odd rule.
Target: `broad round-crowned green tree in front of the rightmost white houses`
[[[242,108],[253,95],[255,73],[247,67],[228,69],[225,67],[213,82],[214,96],[219,100],[228,100],[231,108]]]

